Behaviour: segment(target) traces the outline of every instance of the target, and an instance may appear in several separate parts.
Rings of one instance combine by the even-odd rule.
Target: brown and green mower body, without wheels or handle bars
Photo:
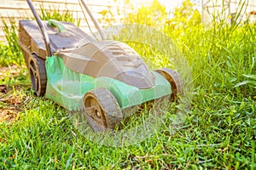
[[[20,20],[20,48],[28,67],[32,54],[45,60],[45,96],[67,110],[81,110],[84,94],[96,88],[108,89],[121,110],[172,94],[166,78],[149,71],[127,44],[97,42],[72,23],[58,22],[64,29],[60,31],[49,21],[42,22],[53,55],[46,56],[44,39],[34,20]]]

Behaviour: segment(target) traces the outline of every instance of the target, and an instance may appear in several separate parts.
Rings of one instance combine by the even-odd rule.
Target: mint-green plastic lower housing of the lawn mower
[[[108,89],[122,110],[172,94],[170,83],[155,71],[152,71],[154,86],[139,89],[110,77],[94,78],[75,72],[67,68],[63,59],[56,55],[47,57],[45,66],[48,77],[46,98],[54,100],[68,111],[79,111],[83,107],[84,94],[96,88]]]

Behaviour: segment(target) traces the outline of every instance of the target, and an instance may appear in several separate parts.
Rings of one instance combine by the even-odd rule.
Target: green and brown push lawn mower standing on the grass
[[[106,40],[83,0],[81,8],[90,15],[101,41],[73,23],[40,20],[31,0],[27,3],[35,20],[20,20],[18,43],[35,94],[68,111],[83,111],[93,130],[119,127],[125,111],[165,97],[172,101],[183,93],[177,71],[149,71],[125,42]]]

